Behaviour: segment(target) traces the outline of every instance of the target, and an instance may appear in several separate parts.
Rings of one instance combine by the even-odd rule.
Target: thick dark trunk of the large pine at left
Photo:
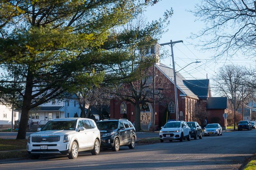
[[[19,131],[16,139],[26,139],[26,130],[28,127],[28,118],[29,118],[29,106],[31,104],[32,100],[32,86],[33,83],[33,74],[30,68],[28,67],[28,74],[26,78],[26,87],[25,87],[25,93],[23,97],[23,103],[22,103],[22,109],[21,109],[21,115],[20,115],[20,125],[19,125]]]

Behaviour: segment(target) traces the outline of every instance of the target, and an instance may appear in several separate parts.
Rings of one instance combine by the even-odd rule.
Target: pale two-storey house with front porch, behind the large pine
[[[51,100],[48,103],[39,105],[36,108],[30,110],[29,120],[32,124],[44,125],[51,119],[58,118],[73,118],[77,113],[80,116],[81,110],[76,100],[76,96],[65,98],[63,100]],[[16,109],[20,120],[21,109]]]

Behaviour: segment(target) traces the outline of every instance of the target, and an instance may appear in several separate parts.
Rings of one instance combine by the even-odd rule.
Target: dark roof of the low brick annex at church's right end
[[[208,97],[206,109],[227,109],[228,97]]]

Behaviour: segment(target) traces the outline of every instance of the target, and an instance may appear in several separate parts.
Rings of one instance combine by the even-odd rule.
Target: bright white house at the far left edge
[[[14,116],[16,116],[14,114]],[[11,128],[12,109],[4,104],[0,104],[0,128]]]

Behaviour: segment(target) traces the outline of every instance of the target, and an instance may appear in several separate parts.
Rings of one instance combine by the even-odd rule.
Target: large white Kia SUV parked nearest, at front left
[[[53,119],[37,130],[28,136],[27,150],[32,159],[62,154],[74,159],[79,151],[91,151],[92,155],[100,152],[100,131],[92,119]]]

